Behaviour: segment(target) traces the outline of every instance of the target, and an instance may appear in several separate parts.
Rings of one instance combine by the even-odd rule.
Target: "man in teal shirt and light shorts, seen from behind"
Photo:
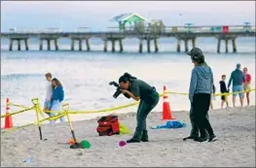
[[[231,84],[233,84],[232,86],[232,90],[233,92],[238,92],[239,93],[233,93],[233,106],[236,107],[236,97],[237,95],[239,95],[239,100],[240,100],[240,106],[243,106],[243,86],[242,86],[242,82],[245,81],[244,75],[242,73],[242,71],[240,70],[240,64],[237,64],[237,68],[235,71],[232,72],[231,77],[230,77],[230,81],[228,84],[228,89],[230,89]]]

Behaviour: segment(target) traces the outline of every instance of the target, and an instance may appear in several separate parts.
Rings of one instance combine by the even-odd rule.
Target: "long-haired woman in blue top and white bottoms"
[[[60,111],[61,110],[61,102],[64,99],[64,90],[62,84],[57,80],[52,80],[53,84],[53,96],[52,96],[52,108],[51,111]],[[50,117],[55,117],[55,113],[50,113]],[[65,121],[64,117],[60,118],[60,121]],[[51,124],[55,123],[55,120],[50,120]]]

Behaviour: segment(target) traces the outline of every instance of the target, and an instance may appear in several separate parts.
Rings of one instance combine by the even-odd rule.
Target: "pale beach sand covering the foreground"
[[[191,129],[189,112],[172,114],[188,126],[179,129],[149,128],[149,143],[128,144],[125,147],[119,147],[118,143],[129,139],[130,135],[99,137],[95,131],[96,118],[73,122],[77,138],[91,142],[89,150],[71,150],[63,144],[71,138],[67,123],[43,125],[43,136],[47,141],[39,140],[36,126],[4,133],[1,136],[1,167],[255,167],[255,106],[210,111],[210,121],[219,138],[214,143],[182,141]],[[134,130],[134,113],[120,115],[119,118]],[[161,118],[161,113],[153,112],[147,120],[148,127],[164,124]],[[33,162],[23,162],[29,152]]]

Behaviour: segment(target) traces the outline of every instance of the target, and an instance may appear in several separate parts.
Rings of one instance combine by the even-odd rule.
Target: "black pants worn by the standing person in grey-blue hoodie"
[[[192,108],[195,113],[196,125],[199,127],[202,138],[205,138],[207,134],[213,136],[213,130],[207,118],[210,105],[210,94],[196,93],[193,97]]]

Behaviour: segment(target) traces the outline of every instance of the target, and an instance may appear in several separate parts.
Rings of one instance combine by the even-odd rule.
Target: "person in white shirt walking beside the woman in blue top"
[[[53,86],[52,86],[52,74],[47,73],[45,75],[47,80],[47,87],[46,87],[46,98],[44,103],[44,112],[51,110],[51,100],[53,95]],[[49,113],[47,113],[49,115]]]

